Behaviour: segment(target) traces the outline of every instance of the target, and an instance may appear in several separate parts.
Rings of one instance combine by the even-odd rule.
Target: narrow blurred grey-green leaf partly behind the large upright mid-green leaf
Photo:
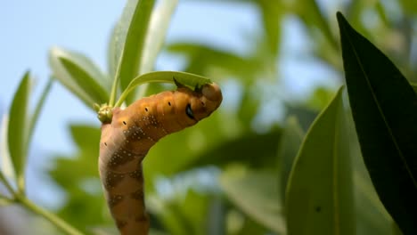
[[[282,131],[281,142],[278,149],[278,159],[280,163],[278,167],[281,168],[281,198],[285,201],[285,190],[287,188],[290,171],[297,157],[299,146],[303,141],[304,132],[298,124],[298,119],[291,116],[287,118],[285,128]]]

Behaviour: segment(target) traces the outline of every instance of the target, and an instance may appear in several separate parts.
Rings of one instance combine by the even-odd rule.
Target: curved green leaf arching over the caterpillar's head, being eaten
[[[128,93],[133,91],[136,86],[143,85],[145,83],[174,83],[175,80],[191,88],[200,87],[211,83],[206,77],[201,77],[191,73],[175,72],[175,71],[158,71],[143,74],[139,77],[135,77],[132,82],[127,86],[125,91],[120,95],[119,101],[116,102],[115,107],[119,107],[123,101],[125,101]]]

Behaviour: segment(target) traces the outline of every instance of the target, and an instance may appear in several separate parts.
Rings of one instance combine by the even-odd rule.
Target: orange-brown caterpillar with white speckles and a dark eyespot
[[[99,173],[112,215],[123,235],[148,234],[142,160],[160,138],[193,126],[215,111],[223,100],[216,84],[192,91],[179,85],[135,101],[126,109],[113,109],[102,125]]]

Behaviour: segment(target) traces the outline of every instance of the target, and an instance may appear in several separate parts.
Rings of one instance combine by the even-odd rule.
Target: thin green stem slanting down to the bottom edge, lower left
[[[44,208],[37,207],[36,204],[31,202],[24,196],[16,196],[16,200],[21,203],[24,207],[27,207],[29,210],[34,212],[37,215],[42,215],[45,219],[53,223],[61,231],[69,235],[83,235],[81,231],[78,231],[76,228],[72,227],[70,224],[61,220],[57,215],[53,215],[51,212],[45,210]]]

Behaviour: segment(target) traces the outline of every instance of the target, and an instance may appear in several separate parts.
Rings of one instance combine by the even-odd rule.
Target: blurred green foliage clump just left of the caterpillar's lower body
[[[101,134],[100,129],[84,125],[71,125],[70,132],[78,152],[73,158],[54,158],[49,174],[68,192],[58,215],[86,232],[93,225],[112,224],[97,170]]]

